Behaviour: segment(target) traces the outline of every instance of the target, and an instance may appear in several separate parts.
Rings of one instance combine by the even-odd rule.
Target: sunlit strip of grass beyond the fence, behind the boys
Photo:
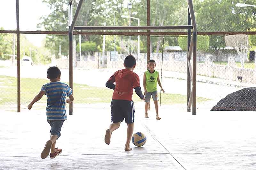
[[[48,83],[48,80],[35,78],[21,78],[21,104],[28,104],[33,100],[35,95],[40,91],[42,85]],[[0,97],[0,105],[17,104],[17,78],[0,76],[0,86],[4,95]],[[74,84],[74,97],[76,103],[110,103],[113,90],[107,87],[94,87],[88,85]],[[160,98],[160,93],[159,93]],[[47,97],[44,96],[37,102],[46,105]],[[134,101],[141,101],[134,92]],[[207,101],[209,99],[197,97],[197,102]],[[187,96],[180,94],[162,93],[161,102],[163,104],[186,103]]]

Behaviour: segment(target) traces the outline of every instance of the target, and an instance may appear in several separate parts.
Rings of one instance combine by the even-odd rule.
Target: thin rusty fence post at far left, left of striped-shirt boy
[[[19,0],[16,0],[16,24],[17,24],[17,112],[20,112],[20,15],[19,15]]]

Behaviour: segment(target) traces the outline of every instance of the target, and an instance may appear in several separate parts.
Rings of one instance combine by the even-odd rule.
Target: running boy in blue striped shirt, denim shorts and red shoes
[[[66,100],[67,103],[71,103],[74,100],[71,88],[60,82],[60,69],[58,67],[49,67],[47,70],[47,78],[50,79],[50,83],[42,86],[41,91],[28,105],[30,110],[34,103],[40,100],[43,95],[47,96],[47,107],[46,116],[47,122],[51,125],[51,137],[44,146],[44,150],[41,153],[41,158],[45,159],[51,150],[50,158],[58,156],[62,149],[55,148],[56,140],[60,137],[60,130],[62,124],[67,120],[66,114],[66,96],[69,98]]]

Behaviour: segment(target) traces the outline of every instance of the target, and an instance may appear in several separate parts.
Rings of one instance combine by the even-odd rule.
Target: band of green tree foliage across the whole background
[[[37,25],[39,29],[47,31],[68,31],[68,0],[42,0],[48,5],[51,12],[41,17],[41,23]],[[73,0],[73,16],[79,0]],[[81,26],[137,26],[136,19],[122,18],[122,15],[140,18],[140,25],[147,25],[147,1],[130,0],[132,9],[127,8],[127,1],[124,0],[86,0],[79,12],[76,25]],[[255,0],[194,0],[194,11],[198,31],[255,31],[256,28],[256,8],[236,7],[237,3],[255,4]],[[180,0],[151,0],[150,1],[150,25],[187,25],[188,6],[187,1]],[[3,29],[3,28],[0,28]],[[254,29],[254,30],[253,30]],[[157,30],[164,31],[164,30]],[[168,30],[173,31],[173,30]],[[184,30],[178,30],[184,31]],[[203,38],[204,37],[204,38]],[[210,49],[220,49],[228,46],[224,36],[209,35],[198,36],[197,48],[206,51]],[[89,46],[88,42],[95,43],[86,50],[102,50],[103,35],[82,35],[82,44]],[[208,41],[209,39],[209,41]],[[35,62],[50,61],[52,55],[57,58],[61,54],[68,56],[68,36],[67,35],[47,35],[44,41],[44,50],[40,50],[28,42],[25,37],[20,38],[21,55],[32,55]],[[79,44],[78,35],[74,35],[76,44]],[[116,49],[119,53],[136,53],[137,36],[106,36],[106,51]],[[164,46],[180,45],[187,50],[187,38],[178,36],[165,36]],[[16,44],[16,43],[15,43]],[[151,52],[160,52],[163,38],[151,36]],[[229,43],[230,44],[230,43]],[[256,38],[249,36],[249,45],[255,47]],[[0,34],[0,58],[9,59],[13,54],[13,35]],[[84,45],[83,45],[84,46]],[[45,50],[47,49],[47,50]],[[147,38],[140,36],[140,52],[147,52]],[[78,53],[78,51],[76,51]],[[40,54],[39,54],[40,53]],[[41,55],[44,53],[45,57]],[[6,55],[8,54],[8,55]]]

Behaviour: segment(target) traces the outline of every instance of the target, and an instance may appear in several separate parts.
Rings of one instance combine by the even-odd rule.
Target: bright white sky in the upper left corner
[[[51,11],[42,0],[20,0],[20,30],[36,31],[39,18]],[[16,0],[0,0],[0,27],[4,30],[16,30]],[[42,30],[42,29],[41,29]],[[28,40],[40,47],[45,35],[26,34]]]

